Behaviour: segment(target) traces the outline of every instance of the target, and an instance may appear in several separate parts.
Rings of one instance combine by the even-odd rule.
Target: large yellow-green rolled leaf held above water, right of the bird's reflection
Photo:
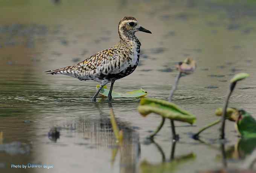
[[[142,98],[138,109],[143,116],[153,112],[171,120],[183,121],[190,124],[193,124],[196,121],[195,115],[190,114],[189,112],[180,109],[174,103],[165,100]]]

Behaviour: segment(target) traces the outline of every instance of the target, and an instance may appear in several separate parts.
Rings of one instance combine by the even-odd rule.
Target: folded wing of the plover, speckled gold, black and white
[[[80,80],[116,74],[125,70],[130,65],[131,59],[128,53],[131,52],[124,52],[121,49],[117,49],[117,47],[111,47],[96,53],[78,64],[46,72],[50,72],[48,74],[65,74]]]

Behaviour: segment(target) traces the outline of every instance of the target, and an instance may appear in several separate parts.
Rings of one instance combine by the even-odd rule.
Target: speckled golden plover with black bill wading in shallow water
[[[50,72],[47,74],[65,74],[79,80],[99,82],[100,87],[92,97],[93,101],[96,101],[101,88],[111,82],[108,94],[108,100],[111,100],[114,82],[133,73],[139,63],[141,44],[135,36],[137,31],[151,33],[140,26],[136,18],[123,17],[118,24],[120,41],[116,45],[102,50],[78,64],[46,72]]]

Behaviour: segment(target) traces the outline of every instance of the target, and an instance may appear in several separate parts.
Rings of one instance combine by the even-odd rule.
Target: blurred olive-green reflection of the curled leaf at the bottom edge
[[[190,153],[185,156],[181,156],[180,158],[175,158],[171,162],[163,162],[160,164],[150,164],[147,161],[143,161],[140,164],[140,172],[141,173],[170,173],[174,172],[180,164],[185,162],[194,160],[196,155],[194,153]]]

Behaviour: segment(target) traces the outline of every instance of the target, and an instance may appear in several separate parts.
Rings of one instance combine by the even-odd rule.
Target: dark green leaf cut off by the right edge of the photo
[[[239,118],[236,123],[242,138],[256,138],[256,120],[244,110],[239,110]]]

